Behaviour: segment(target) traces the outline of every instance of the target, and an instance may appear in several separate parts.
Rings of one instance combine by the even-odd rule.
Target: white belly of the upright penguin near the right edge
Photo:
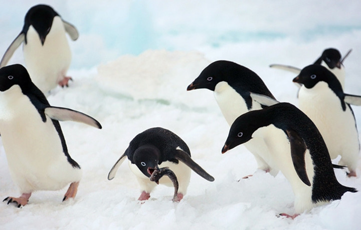
[[[320,131],[331,159],[341,155],[342,163],[349,169],[356,168],[359,140],[352,112],[346,104],[343,111],[340,99],[328,87],[318,82],[313,88],[302,86],[299,107],[311,118]]]

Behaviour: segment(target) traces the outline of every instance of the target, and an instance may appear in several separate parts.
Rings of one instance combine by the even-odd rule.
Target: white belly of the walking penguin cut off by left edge
[[[0,130],[8,165],[22,193],[58,190],[80,181],[81,170],[74,168],[63,152],[51,119],[44,123],[29,97],[15,85],[0,94]],[[19,96],[21,95],[21,96]]]

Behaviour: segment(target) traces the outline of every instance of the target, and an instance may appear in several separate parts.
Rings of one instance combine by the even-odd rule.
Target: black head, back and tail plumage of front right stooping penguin
[[[346,191],[357,191],[355,188],[343,186],[337,181],[326,144],[317,127],[306,114],[290,103],[277,103],[239,116],[232,124],[226,144],[228,143],[229,147],[233,148],[244,143],[252,138],[255,130],[269,124],[273,124],[285,132],[291,142],[291,151],[292,143],[297,146],[298,150],[309,149],[314,170],[312,185],[312,201],[314,203],[340,199]],[[295,136],[299,138],[294,139]],[[297,149],[295,150],[297,151]],[[292,160],[294,164],[304,165],[304,156],[303,158],[292,156]]]

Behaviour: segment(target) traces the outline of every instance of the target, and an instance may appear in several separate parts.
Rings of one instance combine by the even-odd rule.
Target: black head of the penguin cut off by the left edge
[[[21,64],[0,68],[0,91],[6,91],[13,85],[19,85],[23,91],[33,85],[27,69]]]

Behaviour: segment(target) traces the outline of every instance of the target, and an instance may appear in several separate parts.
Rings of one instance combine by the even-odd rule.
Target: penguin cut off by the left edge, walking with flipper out
[[[36,190],[59,190],[70,183],[64,200],[75,197],[82,171],[69,155],[59,120],[101,128],[94,118],[51,106],[21,64],[0,68],[0,130],[10,174],[22,195],[3,201],[28,203]]]

